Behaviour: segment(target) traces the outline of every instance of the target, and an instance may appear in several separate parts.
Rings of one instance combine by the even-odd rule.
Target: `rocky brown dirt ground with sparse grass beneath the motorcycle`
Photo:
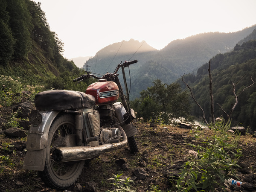
[[[0,117],[12,115],[12,109],[0,108]],[[192,129],[158,125],[151,127],[147,123],[138,123],[136,135],[139,152],[130,154],[128,147],[108,152],[86,163],[79,180],[74,186],[66,189],[73,191],[114,190],[114,175],[122,174],[122,178],[131,177],[134,191],[146,192],[151,186],[159,186],[164,192],[173,191],[170,172],[178,170],[184,161],[190,158],[188,153],[193,148],[187,143],[195,143],[195,132]],[[27,132],[27,130],[25,130]],[[212,136],[212,131],[203,129],[199,133],[204,141]],[[230,136],[233,137],[232,135]],[[242,135],[238,141],[242,156],[236,176],[242,181],[241,187],[226,187],[227,191],[256,191],[256,138],[250,134]],[[36,171],[22,169],[26,147],[26,137],[8,137],[3,131],[0,134],[0,191],[51,191],[43,183]],[[90,189],[90,190],[89,190]],[[155,190],[157,191],[157,190]]]

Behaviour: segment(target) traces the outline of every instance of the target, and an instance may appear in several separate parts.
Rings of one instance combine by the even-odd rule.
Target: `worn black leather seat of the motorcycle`
[[[48,90],[35,96],[35,107],[39,111],[93,108],[94,105],[95,98],[92,95],[79,91]]]

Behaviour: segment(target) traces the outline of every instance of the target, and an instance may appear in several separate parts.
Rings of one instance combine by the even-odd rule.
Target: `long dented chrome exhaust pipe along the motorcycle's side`
[[[59,147],[52,152],[53,160],[63,163],[69,161],[87,160],[98,156],[99,154],[122,148],[127,144],[127,136],[121,126],[117,126],[122,132],[122,141],[120,143],[108,143],[95,147],[76,146]]]

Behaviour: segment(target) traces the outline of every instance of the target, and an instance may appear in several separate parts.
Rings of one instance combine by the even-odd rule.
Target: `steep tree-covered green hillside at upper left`
[[[64,44],[49,30],[40,3],[1,0],[0,29],[2,77],[18,79],[23,86],[64,89],[73,86],[72,76],[84,73],[61,55]]]

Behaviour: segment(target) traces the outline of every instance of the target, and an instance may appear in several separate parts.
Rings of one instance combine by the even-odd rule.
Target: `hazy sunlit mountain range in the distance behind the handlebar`
[[[130,67],[131,99],[152,85],[154,79],[170,84],[184,73],[196,73],[197,69],[218,53],[230,52],[236,44],[250,35],[256,25],[239,32],[208,32],[170,42],[161,50],[146,42],[122,41],[99,50],[88,60],[93,73],[113,72],[120,61],[137,59]],[[140,47],[141,46],[141,47]],[[83,67],[85,69],[85,66]]]

